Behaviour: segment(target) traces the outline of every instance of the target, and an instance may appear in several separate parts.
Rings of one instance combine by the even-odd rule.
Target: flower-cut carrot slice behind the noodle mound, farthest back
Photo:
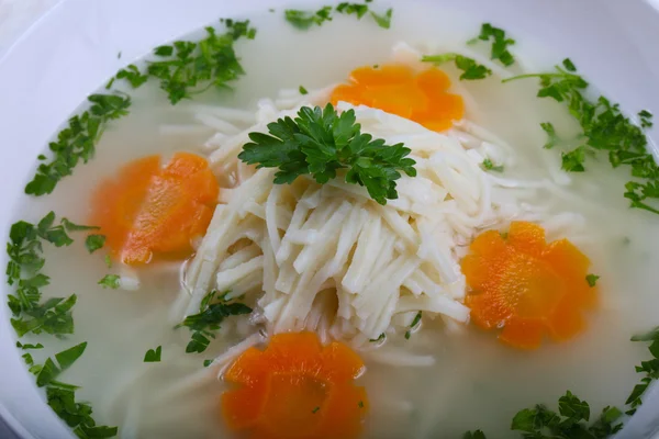
[[[449,86],[448,76],[435,67],[421,74],[403,65],[360,67],[350,74],[349,83],[334,89],[331,100],[335,105],[338,101],[368,105],[445,131],[465,114],[462,98],[446,92]]]

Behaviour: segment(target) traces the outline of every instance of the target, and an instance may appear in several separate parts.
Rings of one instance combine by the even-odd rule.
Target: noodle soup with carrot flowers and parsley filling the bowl
[[[650,115],[461,16],[249,20],[127,66],[41,159],[8,274],[45,401],[80,437],[614,432],[656,325]]]

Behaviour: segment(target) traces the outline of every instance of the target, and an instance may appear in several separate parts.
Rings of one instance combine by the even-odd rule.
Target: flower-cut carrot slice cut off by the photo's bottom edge
[[[368,410],[354,380],[361,359],[347,346],[323,347],[313,333],[279,334],[227,369],[236,387],[222,395],[226,425],[254,439],[356,438]]]

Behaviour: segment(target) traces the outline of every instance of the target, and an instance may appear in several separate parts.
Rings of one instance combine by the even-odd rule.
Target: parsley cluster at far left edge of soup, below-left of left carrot
[[[55,336],[74,333],[70,311],[77,301],[75,294],[68,299],[52,297],[41,302],[41,290],[51,283],[51,279],[42,272],[45,264],[43,243],[66,247],[74,243],[69,233],[93,228],[79,226],[67,218],[62,218],[56,225],[54,212],[46,214],[36,225],[19,221],[11,226],[7,244],[7,281],[15,285],[15,292],[8,295],[8,305],[13,314],[11,325],[19,337],[29,333]]]

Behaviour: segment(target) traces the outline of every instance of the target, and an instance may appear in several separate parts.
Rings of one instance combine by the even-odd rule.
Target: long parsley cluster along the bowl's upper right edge
[[[551,98],[565,102],[570,114],[579,122],[582,130],[582,143],[572,150],[562,153],[562,169],[571,172],[583,172],[589,156],[606,153],[613,168],[628,166],[633,180],[625,184],[624,196],[630,206],[659,214],[659,167],[648,150],[648,140],[644,128],[651,126],[651,114],[639,113],[640,126],[625,116],[619,105],[600,97],[589,100],[584,93],[589,83],[577,74],[577,67],[570,59],[565,59],[556,71],[549,74],[528,74],[504,79],[509,82],[523,78],[540,80],[539,98]],[[557,142],[554,126],[543,124],[549,135],[546,147]]]

